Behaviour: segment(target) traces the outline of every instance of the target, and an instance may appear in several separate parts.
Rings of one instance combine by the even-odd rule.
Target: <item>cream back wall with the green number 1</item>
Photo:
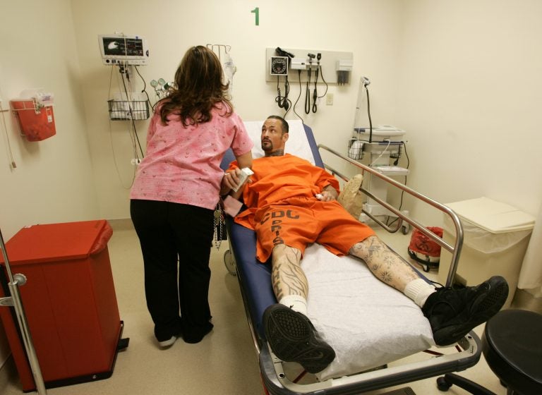
[[[373,113],[376,118],[388,121],[395,112],[397,36],[401,26],[397,4],[397,1],[353,0],[316,3],[160,0],[150,7],[148,2],[133,0],[73,1],[100,213],[107,218],[129,217],[133,149],[128,123],[108,121],[106,100],[112,68],[102,65],[97,35],[124,32],[146,37],[150,45],[150,64],[139,70],[147,87],[152,79],[172,80],[188,47],[230,45],[230,54],[237,66],[234,105],[247,121],[282,114],[275,105],[276,83],[265,83],[266,47],[352,51],[352,79],[359,80],[359,76],[366,73],[378,81]],[[251,13],[257,6],[259,26],[255,25],[255,14]],[[118,92],[117,68],[113,73],[112,91]],[[140,78],[136,76],[132,80],[135,81],[134,90],[143,88]],[[319,89],[321,95],[324,88]],[[150,88],[148,92],[154,91]],[[330,86],[329,92],[335,95],[333,106],[325,106],[322,102],[317,114],[305,116],[303,90],[296,109],[305,117],[306,123],[313,126],[320,142],[344,151],[354,123],[357,84]],[[297,95],[299,87],[292,84],[290,97],[295,99]],[[290,111],[287,118],[296,119],[296,116]],[[145,144],[146,127],[146,121],[137,122],[142,145]],[[116,166],[112,152],[115,152]]]

